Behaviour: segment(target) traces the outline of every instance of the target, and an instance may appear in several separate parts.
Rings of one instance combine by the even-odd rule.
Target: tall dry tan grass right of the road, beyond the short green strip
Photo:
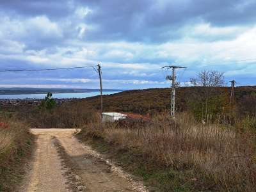
[[[121,148],[140,150],[166,168],[191,170],[209,190],[256,188],[253,134],[234,132],[221,125],[198,124],[185,113],[175,121],[168,115],[157,115],[150,124],[92,124],[83,132]]]

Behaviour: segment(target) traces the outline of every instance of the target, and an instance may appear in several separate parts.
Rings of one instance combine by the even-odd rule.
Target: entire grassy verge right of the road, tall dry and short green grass
[[[175,121],[84,126],[79,138],[153,191],[253,191],[256,187],[255,134],[221,125],[202,125],[183,114]]]

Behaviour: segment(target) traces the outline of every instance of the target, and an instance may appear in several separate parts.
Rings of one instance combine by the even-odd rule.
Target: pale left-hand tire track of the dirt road
[[[52,136],[40,134],[36,139],[36,150],[31,170],[19,191],[68,191],[61,172],[61,161]],[[51,191],[50,190],[50,191]]]

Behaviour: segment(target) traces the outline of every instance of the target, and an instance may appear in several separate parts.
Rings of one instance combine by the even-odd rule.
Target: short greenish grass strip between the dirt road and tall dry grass
[[[149,191],[191,191],[196,188],[193,180],[188,180],[191,173],[179,172],[172,168],[165,168],[141,154],[138,150],[129,150],[113,143],[108,143],[103,138],[77,135],[79,140],[90,145],[103,156],[111,159],[126,172],[131,173],[139,180],[143,180]]]

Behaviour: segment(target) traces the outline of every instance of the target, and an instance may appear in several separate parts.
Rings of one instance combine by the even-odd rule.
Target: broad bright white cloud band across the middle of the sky
[[[209,26],[206,27],[208,30]],[[211,29],[209,29],[211,31]],[[221,33],[217,32],[212,33]],[[157,60],[176,61],[188,67],[197,61],[202,65],[216,65],[223,61],[243,60],[255,58],[256,55],[256,27],[248,29],[234,40],[217,42],[202,42],[193,38],[184,38],[176,42],[166,42],[160,45],[148,45],[129,42],[86,43],[71,42],[69,47],[57,47],[55,52],[44,49],[42,51],[22,52],[25,44],[10,41],[9,51],[20,53],[20,59],[33,63],[63,66],[82,66],[84,64],[102,63],[106,68],[127,68],[134,70],[155,70],[163,63]],[[69,42],[68,42],[69,43]],[[15,48],[16,47],[16,48]],[[118,49],[116,49],[118,47]],[[109,51],[108,51],[109,50]],[[68,54],[67,54],[68,52]],[[102,54],[104,52],[104,54]],[[1,51],[1,54],[3,52]],[[134,62],[135,60],[135,62]],[[136,62],[136,60],[154,60],[156,64]],[[122,61],[118,62],[118,61]],[[141,72],[140,72],[141,73]],[[134,74],[135,75],[135,74]]]

